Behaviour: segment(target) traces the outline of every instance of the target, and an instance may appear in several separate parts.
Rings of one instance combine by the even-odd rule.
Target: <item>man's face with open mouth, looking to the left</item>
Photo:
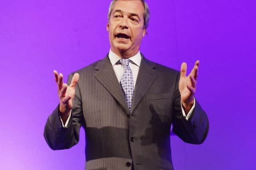
[[[144,28],[144,6],[140,0],[118,0],[114,4],[107,31],[111,50],[133,56],[138,53]]]

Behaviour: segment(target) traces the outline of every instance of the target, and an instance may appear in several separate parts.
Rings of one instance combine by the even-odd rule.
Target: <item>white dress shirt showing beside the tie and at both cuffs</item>
[[[124,73],[124,68],[123,68],[122,64],[119,62],[119,60],[122,59],[122,58],[119,57],[118,55],[116,55],[115,53],[113,53],[111,51],[111,49],[109,51],[108,57],[110,59],[110,63],[112,64],[112,67],[113,67],[114,72],[116,74],[118,83],[120,83],[120,80],[121,80],[122,75]],[[135,87],[136,80],[137,80],[137,77],[138,77],[139,68],[140,68],[140,61],[141,61],[140,51],[138,51],[138,53],[136,55],[130,57],[129,59],[130,59],[130,61],[132,61],[132,62],[129,62],[129,66],[130,66],[130,68],[132,70],[133,83],[134,83],[134,87]],[[190,118],[190,115],[194,111],[195,99],[194,99],[194,104],[193,104],[192,108],[190,109],[190,111],[188,112],[187,115],[186,115],[186,113],[184,111],[184,108],[182,106],[182,102],[181,101],[180,101],[180,105],[181,105],[181,110],[182,110],[183,116],[186,117],[186,120],[188,120]],[[68,116],[68,119],[67,119],[65,125],[63,124],[63,121],[60,118],[60,121],[61,121],[63,127],[68,127],[68,123],[70,121],[71,113],[72,113],[72,111],[70,111],[70,114]]]

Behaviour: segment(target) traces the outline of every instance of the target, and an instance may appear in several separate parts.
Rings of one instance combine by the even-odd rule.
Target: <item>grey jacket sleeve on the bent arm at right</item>
[[[173,96],[172,131],[186,143],[201,144],[208,134],[208,117],[197,100],[195,100],[195,108],[190,118],[186,120],[182,115],[178,86],[179,80],[180,73],[178,73],[176,78],[176,87]]]

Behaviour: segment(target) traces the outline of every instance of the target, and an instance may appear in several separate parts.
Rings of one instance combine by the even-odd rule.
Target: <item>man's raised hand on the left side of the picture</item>
[[[79,74],[74,74],[70,86],[68,86],[66,83],[63,83],[63,74],[58,74],[58,72],[54,70],[54,76],[55,81],[58,85],[58,96],[60,100],[60,117],[63,123],[65,124],[70,114],[70,111],[73,107],[73,100],[75,97],[76,84],[79,80]]]

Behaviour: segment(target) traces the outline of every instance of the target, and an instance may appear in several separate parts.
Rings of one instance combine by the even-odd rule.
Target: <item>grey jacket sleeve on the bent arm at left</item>
[[[68,85],[72,80],[73,74],[68,76]],[[82,102],[79,83],[76,85],[73,109],[68,127],[62,127],[59,117],[59,105],[48,117],[44,127],[44,139],[53,150],[69,149],[79,141],[80,127],[84,126]]]

